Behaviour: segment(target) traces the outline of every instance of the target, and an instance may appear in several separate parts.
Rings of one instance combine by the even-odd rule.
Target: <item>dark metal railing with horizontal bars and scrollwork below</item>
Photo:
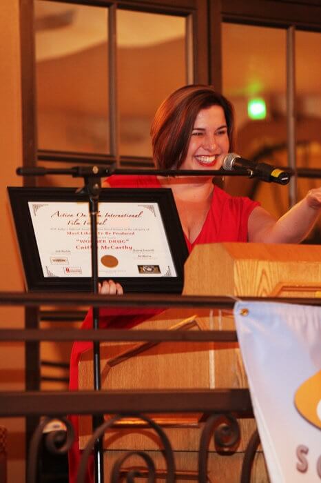
[[[208,308],[232,308],[234,300],[230,297],[151,297],[151,296],[124,296],[110,297],[110,306],[157,306],[157,307],[205,307]],[[256,297],[256,300],[260,300]],[[288,299],[288,298],[267,298],[264,300],[278,302],[292,302],[304,305],[320,305],[320,299]],[[40,304],[69,304],[88,303],[95,306],[103,306],[105,299],[101,296],[90,295],[83,297],[77,294],[20,294],[0,293],[0,305],[21,305],[33,307]],[[93,340],[93,341],[115,341],[115,342],[141,342],[149,343],[160,341],[167,342],[236,342],[235,331],[117,331],[101,329],[99,331],[87,330],[76,331],[75,329],[65,331],[52,329],[1,329],[0,342],[21,341],[39,342],[48,341],[72,341],[72,340]],[[65,414],[76,413],[82,415],[113,414],[111,420],[96,428],[96,431],[87,443],[83,451],[83,457],[79,466],[78,482],[84,482],[87,460],[92,453],[96,440],[105,433],[116,421],[128,414],[140,417],[158,434],[163,445],[166,468],[156,469],[149,454],[143,451],[130,451],[123,455],[114,464],[112,469],[112,482],[121,480],[124,476],[127,481],[134,481],[136,477],[143,477],[147,481],[154,482],[161,472],[167,482],[174,482],[175,478],[184,476],[184,479],[196,480],[201,483],[209,481],[207,471],[209,460],[209,446],[211,437],[214,436],[215,451],[220,454],[229,454],[236,451],[240,440],[240,427],[236,417],[253,417],[253,408],[246,388],[229,389],[196,389],[177,391],[0,391],[0,416],[1,417],[44,417],[34,431],[28,455],[28,483],[36,483],[39,473],[39,457],[41,457],[41,444],[51,453],[63,455],[68,453],[74,442],[74,431],[72,424],[64,417]],[[198,454],[198,473],[196,471],[176,471],[174,453],[169,439],[163,429],[141,413],[203,413],[207,420],[200,435]],[[65,431],[54,431],[44,433],[45,426],[53,419],[60,420],[65,425]],[[252,464],[256,450],[260,444],[258,432],[251,436],[244,458],[242,460],[241,483],[249,483],[251,480]],[[143,460],[145,468],[130,467],[123,468],[128,464],[128,458],[137,455]],[[141,465],[140,465],[141,466]],[[253,476],[253,475],[252,475]]]

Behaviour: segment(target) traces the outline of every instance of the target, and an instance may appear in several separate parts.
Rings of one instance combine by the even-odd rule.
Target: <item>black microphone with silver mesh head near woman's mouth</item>
[[[235,152],[229,152],[229,154],[225,156],[222,162],[222,168],[225,171],[234,171],[238,168],[242,168],[243,170],[245,169],[249,171],[249,177],[255,176],[268,183],[273,181],[278,184],[288,184],[291,178],[290,172],[271,166],[271,164],[254,163],[253,161],[249,161],[248,159],[236,155]]]

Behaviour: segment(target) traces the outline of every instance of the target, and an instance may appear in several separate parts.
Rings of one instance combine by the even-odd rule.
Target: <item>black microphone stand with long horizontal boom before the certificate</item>
[[[101,193],[101,178],[111,175],[161,175],[161,176],[246,176],[252,177],[253,173],[247,169],[236,171],[227,170],[157,170],[157,169],[122,169],[115,165],[105,166],[74,166],[72,168],[17,168],[17,175],[20,176],[44,176],[44,175],[71,175],[72,177],[83,177],[84,186],[76,193],[88,195],[90,211],[91,230],[91,264],[92,264],[92,293],[99,292],[98,273],[98,250],[97,250],[97,213],[99,195]],[[254,174],[255,176],[255,174]],[[94,330],[99,329],[99,307],[92,307],[92,319]],[[94,391],[101,390],[101,357],[100,343],[93,342],[93,370],[94,370]],[[103,423],[102,415],[92,417],[93,430]],[[94,446],[94,475],[95,483],[103,483],[103,438],[96,441]]]

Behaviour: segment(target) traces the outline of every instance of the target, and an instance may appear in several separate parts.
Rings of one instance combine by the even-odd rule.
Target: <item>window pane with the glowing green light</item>
[[[287,166],[286,65],[286,30],[222,23],[223,93],[236,110],[236,151],[247,159]],[[278,217],[288,208],[287,186],[227,177],[225,188]]]

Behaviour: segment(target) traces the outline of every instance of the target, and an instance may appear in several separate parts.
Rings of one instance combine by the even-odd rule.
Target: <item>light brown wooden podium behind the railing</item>
[[[183,295],[231,295],[273,297],[321,296],[321,247],[280,244],[208,244],[196,246],[185,264]],[[170,309],[152,317],[132,330],[233,330],[231,311],[208,309]],[[238,344],[171,343],[101,345],[102,388],[244,388],[247,377]],[[93,387],[92,351],[79,362],[79,388]],[[197,480],[197,457],[201,414],[155,415],[174,449],[177,481]],[[106,416],[108,417],[108,416]],[[222,456],[213,442],[209,446],[210,482],[234,483],[249,437],[256,428],[254,420],[240,420],[241,442],[233,455]],[[83,448],[92,434],[91,418],[79,420],[79,446]],[[152,429],[136,420],[115,427],[105,434],[105,481],[109,469],[127,451],[145,451],[152,455],[158,469],[158,481],[164,481],[165,462]],[[141,466],[132,457],[126,466]],[[253,482],[268,482],[265,462],[259,451],[253,465]]]

